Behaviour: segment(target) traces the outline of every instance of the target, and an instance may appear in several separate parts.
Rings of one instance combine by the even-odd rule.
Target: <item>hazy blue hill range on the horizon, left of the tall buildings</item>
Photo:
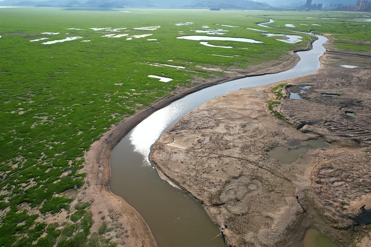
[[[181,9],[273,9],[253,0],[4,0],[2,6],[95,7],[95,8],[181,8]]]

